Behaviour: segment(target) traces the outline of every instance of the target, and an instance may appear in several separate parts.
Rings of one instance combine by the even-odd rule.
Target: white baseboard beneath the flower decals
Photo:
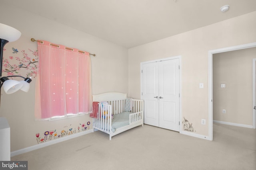
[[[60,142],[63,142],[63,141],[69,140],[69,139],[73,139],[73,138],[76,138],[76,137],[79,137],[79,136],[82,136],[82,135],[86,135],[86,134],[92,133],[92,132],[93,132],[93,130],[90,129],[90,130],[87,130],[87,131],[82,131],[82,132],[79,132],[79,133],[75,133],[73,135],[69,135],[69,136],[66,136],[66,137],[62,137],[62,138],[58,138],[58,139],[55,139],[55,140],[52,140],[52,141],[48,141],[46,143],[40,143],[38,145],[34,145],[34,146],[31,146],[31,147],[27,147],[27,148],[23,148],[23,149],[19,149],[19,150],[14,150],[14,151],[11,152],[11,157],[16,156],[18,154],[23,154],[23,153],[26,153],[26,152],[30,152],[32,150],[47,147],[49,145],[53,145],[53,144],[56,144],[56,143],[60,143]]]

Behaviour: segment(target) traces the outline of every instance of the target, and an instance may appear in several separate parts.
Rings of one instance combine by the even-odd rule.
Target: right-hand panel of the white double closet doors
[[[159,62],[159,127],[180,131],[179,59]]]

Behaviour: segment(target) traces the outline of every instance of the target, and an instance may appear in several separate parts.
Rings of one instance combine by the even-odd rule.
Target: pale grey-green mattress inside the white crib
[[[131,112],[124,111],[122,113],[114,115],[112,119],[112,132],[115,132],[116,129],[129,125],[129,115]]]

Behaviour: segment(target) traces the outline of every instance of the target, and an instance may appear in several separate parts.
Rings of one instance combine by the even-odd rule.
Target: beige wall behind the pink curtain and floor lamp
[[[92,94],[128,93],[128,49],[14,6],[1,4],[0,11],[4,14],[0,15],[0,23],[15,27],[22,33],[18,41],[6,44],[5,48],[8,50],[4,51],[4,57],[14,55],[11,52],[9,54],[11,47],[36,50],[37,44],[30,41],[31,38],[95,53],[96,57],[91,57]],[[21,55],[21,52],[17,55]],[[22,75],[26,76],[26,70]],[[89,115],[58,121],[34,121],[34,78],[30,85],[28,93],[21,91],[6,95],[3,90],[1,92],[0,117],[6,117],[10,124],[11,151],[37,145],[36,133],[43,137],[45,131],[56,130],[60,134],[62,130],[69,132],[70,128],[73,132],[76,129],[77,133],[80,124],[91,122]],[[89,128],[91,126],[92,124]]]

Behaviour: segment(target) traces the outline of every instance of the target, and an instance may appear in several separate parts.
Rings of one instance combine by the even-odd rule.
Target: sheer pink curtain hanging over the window
[[[42,41],[42,40],[40,40]],[[36,119],[92,112],[91,61],[88,52],[38,42]]]

